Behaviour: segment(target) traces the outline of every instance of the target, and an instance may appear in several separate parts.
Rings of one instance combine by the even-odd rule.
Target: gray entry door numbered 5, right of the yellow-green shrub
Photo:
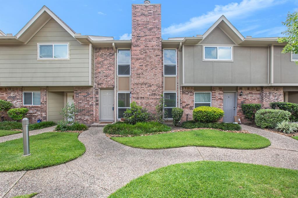
[[[224,93],[224,122],[234,122],[235,93]]]

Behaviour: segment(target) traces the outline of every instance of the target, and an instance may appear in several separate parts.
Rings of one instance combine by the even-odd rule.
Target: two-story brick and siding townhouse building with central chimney
[[[132,39],[75,33],[46,6],[15,35],[0,31],[0,99],[26,107],[30,122],[60,121],[74,103],[77,120],[117,121],[135,101],[155,112],[164,94],[192,119],[198,106],[239,115],[241,104],[298,103],[297,54],[285,43],[243,35],[221,16],[203,35],[162,39],[161,4],[132,5]]]

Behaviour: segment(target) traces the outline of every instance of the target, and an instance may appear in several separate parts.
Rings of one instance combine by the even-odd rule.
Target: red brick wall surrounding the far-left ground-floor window
[[[36,123],[38,119],[46,121],[46,101],[47,101],[47,89],[40,88],[41,104],[40,105],[23,105],[23,88],[21,87],[5,87],[0,88],[0,99],[7,100],[13,103],[12,108],[25,107],[29,111],[26,115],[29,118],[30,123]],[[4,119],[12,120],[4,114]]]

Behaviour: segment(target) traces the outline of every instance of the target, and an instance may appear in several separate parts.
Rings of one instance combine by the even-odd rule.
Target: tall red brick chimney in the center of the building
[[[161,5],[132,5],[131,101],[155,112],[163,93]]]

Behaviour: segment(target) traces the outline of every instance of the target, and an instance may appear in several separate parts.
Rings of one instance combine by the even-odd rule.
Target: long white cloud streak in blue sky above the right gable
[[[229,20],[239,17],[247,17],[252,12],[265,9],[284,1],[277,0],[243,0],[240,3],[229,3],[227,5],[215,5],[215,8],[198,17],[193,17],[189,21],[180,24],[173,24],[163,28],[162,33],[167,35],[178,34],[193,29],[204,29],[211,26],[221,15],[225,15]]]

